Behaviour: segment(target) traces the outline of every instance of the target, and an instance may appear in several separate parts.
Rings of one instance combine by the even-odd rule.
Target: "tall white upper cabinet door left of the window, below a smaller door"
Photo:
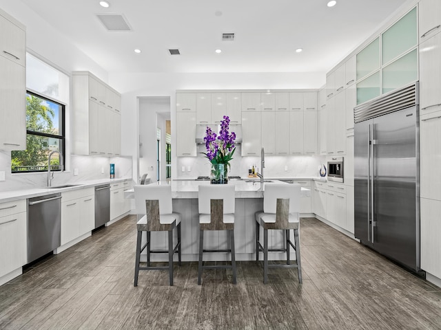
[[[26,148],[25,92],[25,67],[0,56],[0,149],[2,150]]]

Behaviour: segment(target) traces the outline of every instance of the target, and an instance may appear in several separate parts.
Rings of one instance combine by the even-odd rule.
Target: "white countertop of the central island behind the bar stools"
[[[265,179],[267,180],[267,179]],[[283,181],[271,180],[274,183],[287,184]],[[167,184],[172,186],[172,198],[176,199],[190,199],[198,198],[198,186],[210,184],[209,180],[197,181],[197,180],[173,180],[173,181],[158,181],[152,184],[163,185]],[[265,190],[265,183],[263,186],[258,180],[248,179],[229,179],[229,185],[235,187],[236,198],[262,198],[263,191]],[[310,196],[311,190],[303,188],[301,190],[301,196]],[[125,190],[125,198],[134,198],[134,190]]]

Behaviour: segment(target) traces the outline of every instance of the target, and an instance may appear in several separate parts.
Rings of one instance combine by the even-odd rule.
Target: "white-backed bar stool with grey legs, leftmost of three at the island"
[[[168,270],[170,285],[173,285],[173,256],[178,253],[178,263],[181,265],[181,214],[173,212],[171,186],[134,186],[136,213],[145,214],[136,223],[138,236],[136,239],[136,263],[134,286],[138,285],[140,270]],[[177,228],[178,242],[173,246],[173,230]],[[167,231],[168,250],[151,250],[150,233]],[[142,233],[147,232],[147,241],[141,247]],[[141,252],[147,248],[147,266],[141,267],[139,259]],[[168,266],[150,265],[151,253],[168,253]]]

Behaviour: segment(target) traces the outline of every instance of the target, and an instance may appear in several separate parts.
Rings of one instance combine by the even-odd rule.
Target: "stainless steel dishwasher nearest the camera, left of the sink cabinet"
[[[61,194],[28,199],[28,263],[61,245]]]

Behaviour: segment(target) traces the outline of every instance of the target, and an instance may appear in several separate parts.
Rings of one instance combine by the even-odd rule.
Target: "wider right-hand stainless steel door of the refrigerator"
[[[416,123],[416,107],[373,118],[372,139],[373,244],[414,270],[419,255]]]

